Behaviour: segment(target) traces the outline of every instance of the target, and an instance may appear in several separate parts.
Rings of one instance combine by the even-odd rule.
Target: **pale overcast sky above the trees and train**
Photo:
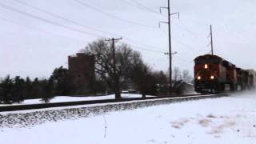
[[[158,22],[165,21],[163,14],[140,10],[127,4],[140,2],[150,10],[158,12],[159,6],[166,6],[167,0],[79,0],[108,14],[146,26],[110,18],[75,0],[19,0],[42,10],[58,14],[84,26],[54,18],[49,14],[22,5],[17,0],[0,1],[0,77],[6,74],[22,77],[48,77],[58,66],[67,66],[67,56],[81,50],[88,42],[97,38],[112,38],[113,35],[91,30],[109,32],[123,37],[122,42],[130,44],[142,53],[142,58],[154,70],[168,69],[167,26],[158,29]],[[9,10],[2,4],[10,6]],[[134,3],[134,5],[136,5]],[[3,6],[3,7],[2,7]],[[256,68],[256,6],[251,0],[171,0],[172,12],[180,12],[180,18],[172,18],[172,40],[174,66],[193,72],[193,59],[199,54],[210,52],[210,24],[213,25],[214,54],[226,58],[239,67]],[[56,26],[14,9],[57,23]],[[67,26],[73,30],[63,28]],[[77,31],[75,31],[75,30]],[[78,30],[82,32],[78,32]],[[88,35],[86,33],[94,34]],[[145,46],[149,45],[149,46]],[[148,49],[148,50],[142,50]]]

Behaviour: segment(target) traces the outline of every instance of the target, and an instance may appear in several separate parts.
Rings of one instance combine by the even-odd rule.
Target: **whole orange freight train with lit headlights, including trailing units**
[[[194,59],[194,90],[215,94],[226,90],[245,90],[256,86],[256,72],[243,70],[212,54]]]

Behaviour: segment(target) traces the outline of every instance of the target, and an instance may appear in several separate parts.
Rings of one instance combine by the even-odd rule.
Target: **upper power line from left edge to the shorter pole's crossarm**
[[[40,18],[40,17],[38,17],[38,16],[36,16],[36,15],[34,15],[34,14],[29,14],[29,13],[26,13],[25,11],[18,10],[18,9],[15,9],[15,8],[11,7],[11,6],[7,6],[7,5],[5,5],[5,4],[2,4],[1,2],[0,2],[0,7],[4,8],[4,9],[7,9],[7,10],[14,11],[14,12],[16,12],[16,13],[18,13],[18,14],[26,15],[26,16],[28,16],[28,17],[30,17],[30,18],[38,19],[38,20],[40,20],[40,21],[42,21],[42,22],[47,22],[47,23],[50,23],[50,24],[55,25],[55,26],[60,26],[60,27],[62,27],[62,28],[68,29],[68,30],[76,31],[76,32],[78,32],[78,33],[87,34],[87,35],[90,35],[90,36],[93,36],[93,37],[96,37],[96,38],[102,37],[102,36],[99,36],[99,35],[97,35],[97,34],[92,34],[92,33],[86,32],[86,31],[84,31],[84,30],[78,30],[78,29],[75,29],[75,28],[70,27],[70,26],[65,26],[65,25],[59,24],[58,22],[52,22],[52,21],[47,20],[47,19],[45,19],[45,18]]]

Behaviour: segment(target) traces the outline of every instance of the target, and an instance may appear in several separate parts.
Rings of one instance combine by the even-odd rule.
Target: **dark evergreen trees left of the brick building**
[[[55,69],[50,78],[23,79],[2,78],[0,81],[0,102],[13,103],[23,102],[25,99],[42,98],[42,101],[49,102],[55,95],[71,94],[72,86],[67,70],[62,66]]]

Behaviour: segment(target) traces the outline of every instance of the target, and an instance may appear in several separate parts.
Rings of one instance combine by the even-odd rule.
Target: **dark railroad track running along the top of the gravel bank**
[[[174,101],[181,102],[186,100],[201,99],[201,98],[214,98],[223,97],[227,94],[186,94],[186,95],[173,95],[164,97],[147,97],[147,98],[121,98],[121,99],[104,99],[104,100],[90,100],[90,101],[77,101],[77,102],[54,102],[54,103],[40,103],[30,105],[12,105],[12,106],[0,106],[0,112],[6,111],[18,111],[18,110],[36,110],[52,107],[62,106],[79,106],[79,105],[91,105],[102,103],[118,103],[118,102],[132,102],[132,101],[146,101],[146,100],[158,100],[164,98],[172,98]]]

